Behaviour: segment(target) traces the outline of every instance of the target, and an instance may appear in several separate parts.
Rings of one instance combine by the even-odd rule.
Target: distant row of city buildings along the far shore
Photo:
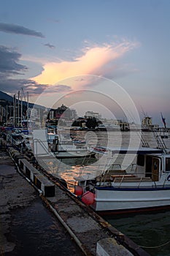
[[[92,127],[93,121],[94,129],[120,129],[123,131],[141,128],[144,131],[159,129],[158,124],[152,124],[152,117],[147,115],[142,118],[141,125],[139,124],[136,128],[136,124],[129,124],[128,121],[102,118],[100,113],[93,110],[88,110],[85,112],[85,116],[78,117],[75,109],[68,108],[63,104],[56,109],[49,109],[18,99],[14,97],[13,102],[12,100],[0,99],[1,125],[23,127],[31,123],[34,127],[56,127],[61,125],[66,127],[74,126],[76,129],[78,127],[80,129],[88,129],[88,127]]]

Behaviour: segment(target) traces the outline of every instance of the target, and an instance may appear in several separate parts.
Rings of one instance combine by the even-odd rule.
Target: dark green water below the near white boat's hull
[[[170,211],[112,215],[105,219],[150,255],[170,255]]]

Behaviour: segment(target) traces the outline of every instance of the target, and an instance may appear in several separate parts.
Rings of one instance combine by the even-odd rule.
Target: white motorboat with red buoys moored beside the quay
[[[74,194],[100,214],[169,207],[170,150],[158,141],[158,148],[105,148],[110,163],[117,154],[135,154],[136,162],[128,169],[109,164],[96,177],[74,178]]]

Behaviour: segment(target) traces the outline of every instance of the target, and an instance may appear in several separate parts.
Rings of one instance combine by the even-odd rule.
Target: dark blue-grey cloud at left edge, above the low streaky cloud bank
[[[21,54],[12,48],[0,45],[0,78],[18,75],[27,70],[26,66],[18,64],[20,57]]]

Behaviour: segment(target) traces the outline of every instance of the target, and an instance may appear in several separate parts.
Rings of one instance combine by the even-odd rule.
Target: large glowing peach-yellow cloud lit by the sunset
[[[72,61],[47,62],[43,65],[42,73],[33,79],[36,83],[55,84],[77,75],[99,75],[113,78],[113,73],[116,75],[117,71],[120,75],[120,68],[117,68],[115,61],[137,46],[139,46],[138,42],[124,39],[119,43],[87,47],[82,50],[81,56]],[[85,81],[83,86],[85,86]],[[74,86],[74,89],[77,88]]]

